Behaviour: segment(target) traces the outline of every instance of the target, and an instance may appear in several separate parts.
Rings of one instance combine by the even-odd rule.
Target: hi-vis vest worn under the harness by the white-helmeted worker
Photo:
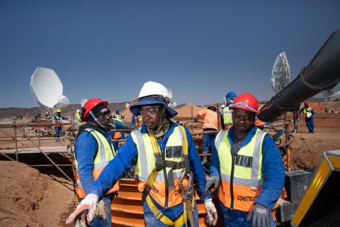
[[[142,192],[145,189],[149,175],[154,170],[156,157],[154,156],[149,134],[135,130],[131,132],[131,137],[137,145],[138,158],[135,175],[139,181],[138,190]],[[149,194],[158,204],[169,208],[183,202],[179,179],[182,171],[185,170],[185,162],[183,156],[183,133],[180,126],[176,126],[169,136],[163,158],[165,162],[172,162],[173,166],[166,164],[166,167],[163,168],[163,170],[166,169],[166,173],[163,170],[158,172]],[[174,165],[174,162],[176,162],[176,165]],[[172,176],[173,179],[171,179]],[[184,179],[183,185],[186,187],[187,184],[188,182]]]

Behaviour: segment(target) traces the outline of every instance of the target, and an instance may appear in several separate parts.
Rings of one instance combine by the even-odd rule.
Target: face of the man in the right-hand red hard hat
[[[249,132],[254,125],[255,113],[245,109],[232,109],[232,124],[236,131]]]

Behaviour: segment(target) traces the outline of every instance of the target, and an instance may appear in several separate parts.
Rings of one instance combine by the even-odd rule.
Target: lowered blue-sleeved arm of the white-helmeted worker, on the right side
[[[188,155],[190,160],[190,170],[193,172],[193,183],[195,184],[196,192],[198,196],[200,196],[201,200],[211,199],[212,196],[210,194],[205,194],[205,173],[202,165],[200,164],[200,157],[198,157],[198,152],[195,147],[195,143],[193,143],[193,137],[191,133],[186,128],[186,138],[188,139]]]

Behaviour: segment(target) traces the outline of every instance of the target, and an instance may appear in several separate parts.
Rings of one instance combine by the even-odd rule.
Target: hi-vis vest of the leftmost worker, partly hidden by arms
[[[113,148],[112,144],[108,143],[108,140],[106,140],[103,134],[91,128],[86,128],[85,130],[94,136],[98,144],[96,157],[94,159],[94,170],[92,172],[94,175],[94,179],[97,179],[99,175],[101,174],[101,171],[104,169],[104,167],[108,165],[108,162],[110,162],[110,160],[113,160],[113,157],[115,157],[115,149]],[[86,194],[84,192],[84,188],[81,186],[81,182],[79,179],[78,162],[77,162],[75,154],[74,154],[74,160],[76,160],[76,179],[77,179],[76,192],[80,198],[84,198]],[[118,191],[118,189],[119,189],[119,184],[117,182],[113,186],[113,188],[107,192],[107,194],[116,192]]]

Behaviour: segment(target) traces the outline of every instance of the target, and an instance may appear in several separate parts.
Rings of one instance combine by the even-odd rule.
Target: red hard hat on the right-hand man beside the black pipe
[[[250,93],[240,94],[234,102],[229,105],[229,108],[245,109],[259,114],[259,101]]]

